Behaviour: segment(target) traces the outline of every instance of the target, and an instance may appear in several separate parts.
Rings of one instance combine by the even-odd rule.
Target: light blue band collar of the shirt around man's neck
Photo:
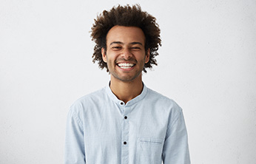
[[[115,94],[112,92],[112,90],[110,89],[110,84],[108,86],[106,86],[106,92],[107,92],[107,95],[110,97],[111,100],[113,100],[115,103],[118,103],[118,104],[121,104],[123,103],[124,104],[124,101],[122,100],[119,100]],[[129,100],[127,102],[127,104],[125,104],[125,106],[131,106],[132,104],[134,103],[137,103],[138,101],[142,100],[145,96],[146,96],[146,92],[147,92],[147,87],[146,85],[143,83],[143,89],[142,89],[142,92],[140,95],[138,95],[137,97],[133,98],[132,100]]]

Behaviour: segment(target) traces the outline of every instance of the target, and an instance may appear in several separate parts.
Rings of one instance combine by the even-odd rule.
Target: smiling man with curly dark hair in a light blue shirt
[[[73,104],[67,118],[66,164],[188,164],[182,109],[146,88],[141,72],[156,65],[155,18],[138,5],[95,19],[93,61],[110,72],[104,89]]]

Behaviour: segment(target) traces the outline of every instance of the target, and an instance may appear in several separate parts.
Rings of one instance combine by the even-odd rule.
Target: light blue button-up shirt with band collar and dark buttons
[[[189,164],[180,106],[146,88],[126,104],[110,86],[70,107],[65,164]]]

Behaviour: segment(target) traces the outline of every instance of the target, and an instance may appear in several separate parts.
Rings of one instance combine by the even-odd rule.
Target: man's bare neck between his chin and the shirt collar
[[[127,103],[129,100],[132,100],[141,94],[143,89],[141,76],[135,79],[135,81],[129,82],[119,81],[118,79],[111,77],[110,89],[119,100]]]

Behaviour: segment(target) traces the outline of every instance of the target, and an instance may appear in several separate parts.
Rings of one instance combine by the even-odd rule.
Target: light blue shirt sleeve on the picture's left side
[[[67,116],[64,164],[85,164],[84,130],[73,110]]]

